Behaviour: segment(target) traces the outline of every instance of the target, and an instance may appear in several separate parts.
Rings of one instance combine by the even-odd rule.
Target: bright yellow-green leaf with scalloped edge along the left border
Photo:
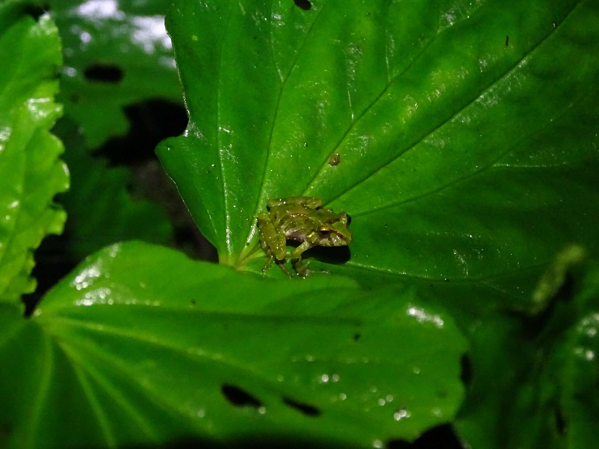
[[[48,131],[61,111],[53,101],[60,42],[50,17],[36,22],[22,3],[2,3],[0,60],[0,302],[14,302],[35,288],[32,250],[65,220],[52,202],[68,187],[68,171]]]

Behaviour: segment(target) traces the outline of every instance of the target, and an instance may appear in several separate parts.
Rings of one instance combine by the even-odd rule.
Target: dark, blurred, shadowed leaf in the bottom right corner
[[[561,289],[537,317],[480,317],[470,332],[472,383],[456,430],[467,447],[597,447],[599,266],[556,258],[543,282]]]

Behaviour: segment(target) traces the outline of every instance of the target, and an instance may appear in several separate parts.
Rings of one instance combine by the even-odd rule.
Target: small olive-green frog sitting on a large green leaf
[[[287,256],[286,240],[301,242],[291,253],[291,262],[301,276],[311,273],[301,260],[301,253],[315,246],[344,246],[352,241],[350,217],[343,211],[335,214],[321,207],[322,199],[311,196],[291,196],[285,199],[269,199],[267,210],[258,214],[258,231],[262,249],[268,256],[262,271],[276,261],[283,265]]]

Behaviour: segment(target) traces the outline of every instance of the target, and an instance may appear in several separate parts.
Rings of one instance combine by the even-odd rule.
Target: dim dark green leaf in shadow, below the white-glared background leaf
[[[131,170],[109,168],[104,159],[90,156],[74,123],[59,120],[53,129],[65,142],[63,159],[71,172],[71,189],[59,196],[66,210],[69,251],[78,260],[116,242],[141,239],[168,244],[173,229],[164,210],[153,202],[131,197]]]

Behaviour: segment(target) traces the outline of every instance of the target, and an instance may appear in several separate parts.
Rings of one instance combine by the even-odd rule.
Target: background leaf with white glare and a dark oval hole
[[[166,0],[49,0],[64,46],[60,87],[65,115],[90,147],[128,130],[123,107],[146,99],[180,103]],[[113,76],[98,79],[94,69]]]

